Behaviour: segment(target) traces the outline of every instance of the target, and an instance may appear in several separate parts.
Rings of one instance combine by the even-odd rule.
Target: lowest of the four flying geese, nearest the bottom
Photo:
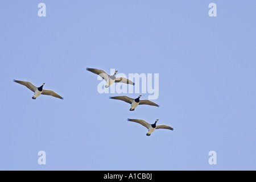
[[[139,123],[141,125],[143,125],[144,127],[146,127],[148,129],[147,131],[147,136],[150,136],[151,133],[153,131],[155,131],[155,129],[168,129],[168,130],[174,130],[172,127],[167,126],[167,125],[156,125],[156,122],[158,122],[158,119],[156,119],[154,124],[150,124],[146,121],[144,121],[143,119],[127,119],[127,121],[132,121],[132,122],[136,122]]]

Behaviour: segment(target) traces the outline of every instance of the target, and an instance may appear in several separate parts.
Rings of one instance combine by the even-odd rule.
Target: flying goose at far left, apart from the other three
[[[63,97],[60,97],[58,94],[56,94],[52,90],[43,90],[43,86],[44,86],[45,83],[43,83],[43,85],[40,86],[40,87],[36,87],[35,85],[31,84],[31,82],[28,82],[28,81],[18,81],[18,80],[13,80],[13,81],[18,83],[18,84],[27,86],[28,89],[30,89],[32,92],[34,92],[35,94],[32,97],[32,99],[34,99],[34,100],[38,96],[40,96],[40,94],[57,97],[57,98],[60,98],[61,100],[64,99]]]

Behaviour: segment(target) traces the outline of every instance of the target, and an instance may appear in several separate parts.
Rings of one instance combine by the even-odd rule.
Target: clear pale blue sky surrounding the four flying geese
[[[256,170],[255,12],[241,0],[1,1],[0,169]],[[160,107],[129,111],[86,67],[159,73]],[[13,79],[64,100],[32,100]],[[147,137],[127,118],[174,131]]]

